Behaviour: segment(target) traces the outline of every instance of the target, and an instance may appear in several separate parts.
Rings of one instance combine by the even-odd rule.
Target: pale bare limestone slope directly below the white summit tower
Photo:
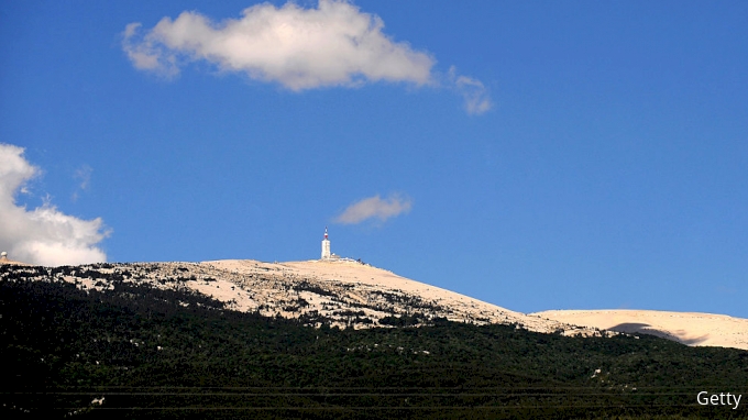
[[[339,319],[342,327],[343,311],[362,311],[374,320],[392,314],[422,312],[431,317],[443,317],[452,321],[484,323],[516,323],[531,331],[562,332],[564,334],[600,334],[592,329],[574,328],[560,322],[528,317],[495,305],[424,283],[400,277],[392,272],[348,261],[306,261],[287,263],[263,263],[253,259],[223,259],[200,263],[202,267],[222,270],[242,278],[238,284],[254,292],[256,302],[265,302],[261,312],[280,313],[293,318],[298,312],[318,313]],[[268,280],[272,280],[268,283]],[[326,292],[315,292],[314,287]],[[305,288],[309,290],[304,290]],[[218,289],[198,289],[222,300]],[[296,291],[293,291],[296,290]],[[318,290],[319,291],[319,290]],[[274,302],[293,301],[298,296],[309,305],[295,311],[283,310]],[[238,302],[249,308],[250,302]],[[267,308],[267,307],[271,308]],[[338,313],[338,314],[337,314]],[[353,323],[353,328],[367,327]]]

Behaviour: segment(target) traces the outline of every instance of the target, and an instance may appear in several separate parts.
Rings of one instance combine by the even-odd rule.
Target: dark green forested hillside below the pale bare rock
[[[0,269],[3,418],[748,417],[740,350],[446,320],[314,329],[195,292]],[[745,398],[707,408],[702,390]]]

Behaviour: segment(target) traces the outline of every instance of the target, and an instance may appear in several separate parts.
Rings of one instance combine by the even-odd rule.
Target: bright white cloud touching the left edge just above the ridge
[[[107,261],[96,246],[109,234],[100,218],[64,214],[48,199],[34,210],[15,203],[16,191],[38,173],[23,148],[0,143],[0,251],[11,259],[50,266]]]

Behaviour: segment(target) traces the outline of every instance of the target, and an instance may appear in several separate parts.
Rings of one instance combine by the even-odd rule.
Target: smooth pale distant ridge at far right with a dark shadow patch
[[[620,309],[554,310],[530,316],[629,334],[652,334],[688,345],[748,350],[748,319],[724,314]]]

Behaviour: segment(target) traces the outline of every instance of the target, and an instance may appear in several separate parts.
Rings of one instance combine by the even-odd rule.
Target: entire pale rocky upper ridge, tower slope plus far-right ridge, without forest
[[[315,327],[419,325],[444,318],[475,324],[515,324],[563,335],[653,334],[688,345],[748,350],[746,319],[641,310],[525,314],[346,259],[94,264],[45,268],[40,273],[37,278],[53,276],[87,290],[110,289],[111,278],[162,289],[194,290],[227,303],[232,310],[302,319]]]

